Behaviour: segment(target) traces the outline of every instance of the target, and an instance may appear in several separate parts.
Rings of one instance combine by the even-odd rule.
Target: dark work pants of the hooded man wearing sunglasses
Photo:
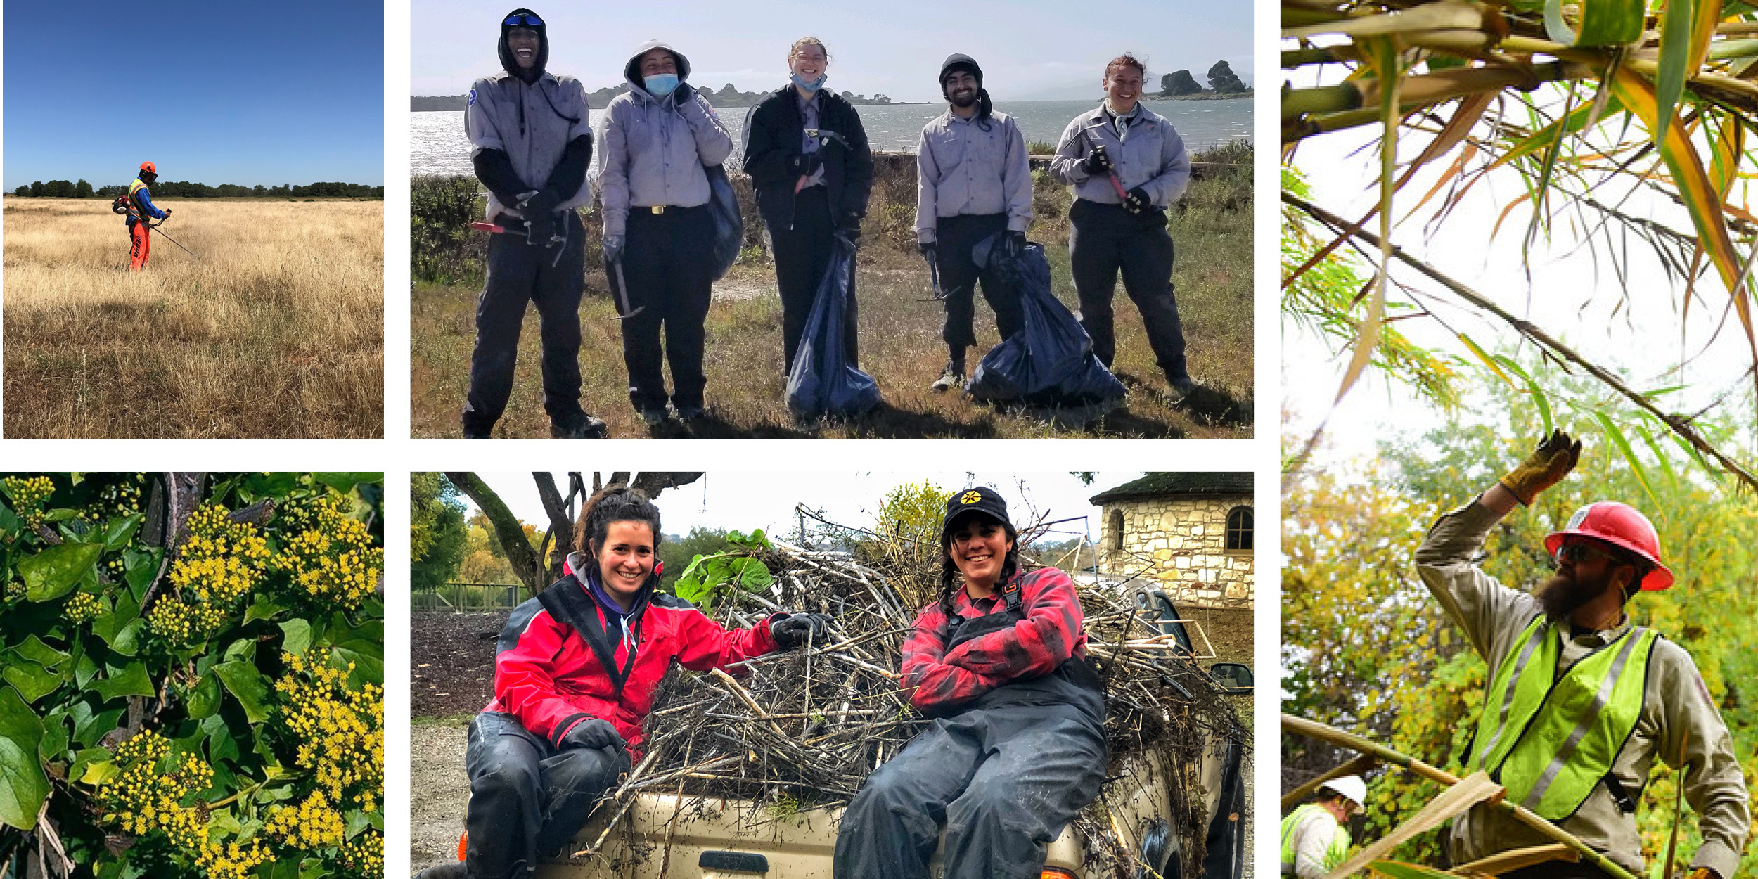
[[[524,229],[517,218],[496,220]],[[580,411],[580,292],[585,288],[585,227],[566,211],[568,246],[526,244],[524,234],[489,236],[489,280],[476,299],[476,348],[469,355],[466,431],[489,431],[506,411],[526,302],[538,306],[543,339],[543,410],[552,422]],[[559,244],[557,244],[559,246]]]

